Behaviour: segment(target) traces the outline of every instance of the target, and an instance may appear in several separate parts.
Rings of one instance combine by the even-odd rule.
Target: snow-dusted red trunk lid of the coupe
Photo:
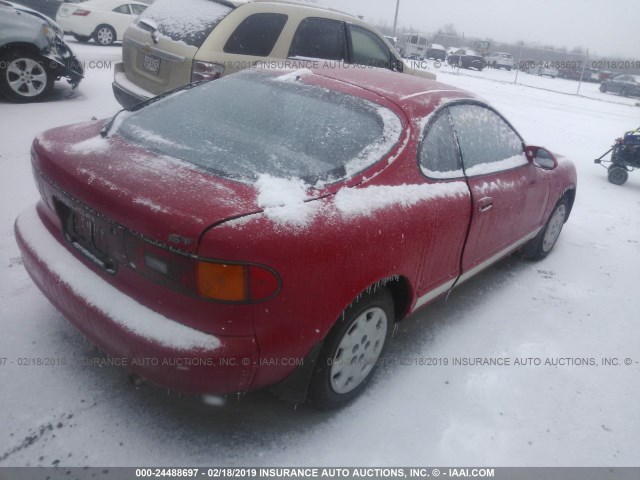
[[[215,177],[117,135],[102,138],[104,123],[36,137],[34,173],[52,209],[63,202],[188,253],[196,253],[209,226],[261,210],[253,185]]]

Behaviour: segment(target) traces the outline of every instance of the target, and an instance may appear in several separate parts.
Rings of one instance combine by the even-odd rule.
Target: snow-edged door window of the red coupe
[[[449,107],[468,176],[527,164],[522,139],[493,110],[480,105]]]

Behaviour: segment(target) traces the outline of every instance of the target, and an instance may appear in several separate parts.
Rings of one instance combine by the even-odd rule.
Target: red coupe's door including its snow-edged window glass
[[[522,241],[521,219],[535,172],[524,155],[522,139],[494,110],[476,103],[449,110],[472,197],[462,256],[466,278]]]

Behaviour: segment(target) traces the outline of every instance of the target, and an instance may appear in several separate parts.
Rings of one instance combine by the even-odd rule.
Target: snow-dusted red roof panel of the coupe
[[[313,62],[313,61],[311,61]],[[458,99],[479,100],[465,90],[428,80],[414,75],[392,72],[382,68],[337,64],[311,68],[314,75],[337,80],[372,92],[400,107],[408,117],[424,117],[433,112],[441,103]],[[282,72],[294,72],[294,69]],[[304,77],[302,77],[304,78]]]

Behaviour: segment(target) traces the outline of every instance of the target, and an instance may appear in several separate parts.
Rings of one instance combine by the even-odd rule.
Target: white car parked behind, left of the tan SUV
[[[76,40],[94,39],[100,45],[122,40],[124,31],[147,8],[142,2],[127,0],[88,0],[63,3],[56,21]]]

